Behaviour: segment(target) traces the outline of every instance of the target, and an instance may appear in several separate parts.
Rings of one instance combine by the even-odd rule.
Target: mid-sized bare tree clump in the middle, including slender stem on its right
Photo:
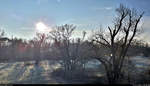
[[[79,68],[82,58],[81,46],[86,35],[84,31],[81,38],[73,38],[75,28],[73,25],[65,24],[57,26],[50,32],[50,37],[54,40],[55,48],[57,48],[55,51],[58,52],[57,57],[62,60],[65,74],[69,77],[72,77],[72,74],[75,73],[74,71]]]

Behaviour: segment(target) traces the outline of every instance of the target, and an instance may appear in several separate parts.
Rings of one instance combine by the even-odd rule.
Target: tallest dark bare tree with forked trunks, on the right
[[[108,32],[101,30],[92,38],[94,45],[108,50],[108,55],[101,53],[96,58],[104,65],[109,83],[117,83],[122,78],[126,53],[139,31],[138,24],[144,14],[138,15],[136,10],[122,4],[116,12],[118,15],[115,18],[114,27],[108,27]]]

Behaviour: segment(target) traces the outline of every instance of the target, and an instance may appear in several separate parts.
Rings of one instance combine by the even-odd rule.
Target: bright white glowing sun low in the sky
[[[43,22],[38,22],[36,23],[36,29],[38,32],[47,32],[47,30],[49,29],[49,27],[47,25],[45,25]]]

